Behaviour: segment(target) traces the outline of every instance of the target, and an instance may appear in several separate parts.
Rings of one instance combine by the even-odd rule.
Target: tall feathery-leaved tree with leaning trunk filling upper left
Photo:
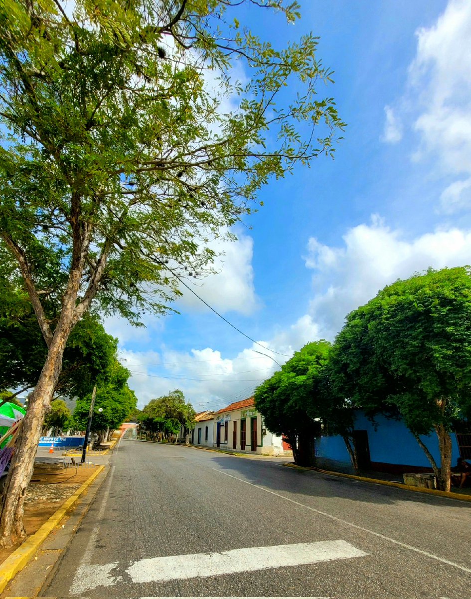
[[[0,236],[48,347],[6,482],[3,545],[25,536],[42,420],[92,302],[133,323],[165,312],[259,187],[332,155],[343,123],[317,96],[331,81],[317,38],[277,50],[231,18],[240,4],[76,0],[72,15],[64,0],[0,4]],[[290,0],[245,4],[298,18]],[[247,83],[231,77],[236,61]],[[60,305],[54,323],[44,297]]]

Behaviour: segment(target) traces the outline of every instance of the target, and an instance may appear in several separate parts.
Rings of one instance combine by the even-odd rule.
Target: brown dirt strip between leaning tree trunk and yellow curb
[[[28,535],[34,534],[77,489],[96,472],[99,466],[65,468],[59,474],[33,474],[26,491],[23,524]],[[21,543],[0,549],[4,561]]]

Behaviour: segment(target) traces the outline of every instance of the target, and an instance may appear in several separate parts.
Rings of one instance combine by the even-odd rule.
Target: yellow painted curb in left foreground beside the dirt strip
[[[18,549],[14,550],[10,556],[0,564],[0,592],[4,591],[5,586],[8,582],[23,570],[27,562],[36,554],[39,547],[47,539],[51,531],[56,528],[62,518],[66,515],[69,509],[78,500],[80,495],[93,483],[96,477],[104,470],[105,466],[99,466],[98,470],[94,472],[88,480],[85,480],[83,485],[77,489],[74,495],[68,498],[62,506],[53,513],[53,515],[44,522],[44,524],[28,539],[21,544]]]

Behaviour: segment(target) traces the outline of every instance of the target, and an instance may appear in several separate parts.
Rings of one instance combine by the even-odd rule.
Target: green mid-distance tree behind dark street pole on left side
[[[91,431],[98,435],[100,442],[106,441],[113,431],[120,428],[131,410],[136,408],[136,395],[127,385],[129,377],[129,370],[115,359],[106,381],[97,385]],[[75,405],[72,424],[77,430],[87,428],[90,402],[91,394]]]

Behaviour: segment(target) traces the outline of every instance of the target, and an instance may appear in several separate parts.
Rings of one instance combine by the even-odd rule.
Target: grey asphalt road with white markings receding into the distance
[[[466,599],[471,505],[123,441],[42,595]]]

